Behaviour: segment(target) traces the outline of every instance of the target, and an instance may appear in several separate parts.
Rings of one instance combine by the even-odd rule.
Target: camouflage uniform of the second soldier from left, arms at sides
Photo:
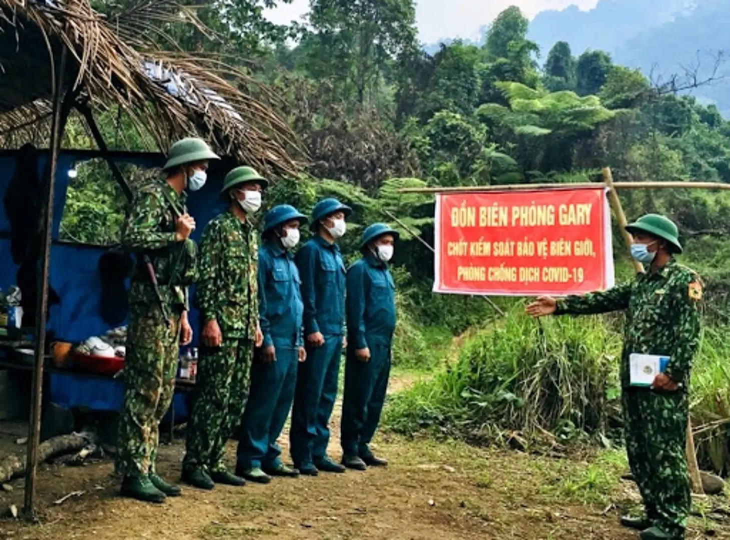
[[[224,212],[203,233],[195,294],[201,320],[218,321],[223,344],[201,348],[185,468],[226,470],[226,441],[239,425],[250,389],[258,327],[257,277],[255,228],[233,212]]]

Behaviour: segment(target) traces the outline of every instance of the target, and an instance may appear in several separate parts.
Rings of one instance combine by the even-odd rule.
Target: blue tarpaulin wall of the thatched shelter
[[[97,156],[100,157],[100,156]],[[47,330],[52,331],[55,339],[66,342],[82,342],[88,337],[99,336],[109,331],[110,325],[104,322],[99,312],[101,298],[101,279],[99,277],[99,258],[106,251],[103,247],[87,246],[56,242],[64,214],[66,191],[69,188],[69,170],[80,161],[90,159],[88,152],[64,150],[59,156],[58,172],[55,178],[53,198],[53,247],[50,257],[50,286],[58,293],[60,302],[52,306],[49,312]],[[162,157],[159,154],[135,154],[115,158],[115,161],[134,163],[148,168],[160,166]],[[39,177],[45,180],[47,157],[39,157]],[[4,199],[10,180],[15,174],[15,157],[12,154],[0,156],[0,199]],[[199,242],[204,225],[212,217],[223,210],[225,204],[220,199],[219,191],[222,175],[212,168],[207,184],[201,190],[188,197],[188,210],[196,220],[193,239]],[[40,196],[40,193],[39,193]],[[10,225],[5,215],[4,205],[0,205],[0,288],[7,290],[15,285],[18,266],[12,262],[10,255]],[[191,291],[193,292],[193,291]],[[196,309],[190,313],[191,325],[197,343],[199,336],[199,315]],[[25,321],[26,326],[33,321]],[[126,322],[124,323],[126,324]],[[72,381],[77,382],[72,385]],[[55,392],[53,389],[55,388]],[[82,379],[66,375],[52,375],[51,399],[60,405],[76,406],[82,401],[90,408],[114,410],[120,403],[120,385],[116,381],[103,379]],[[176,415],[185,416],[183,409],[177,409]]]

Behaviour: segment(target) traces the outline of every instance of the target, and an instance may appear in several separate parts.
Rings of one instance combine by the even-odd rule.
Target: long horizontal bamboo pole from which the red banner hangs
[[[601,188],[602,182],[576,182],[573,184],[505,184],[505,185],[458,185],[442,188],[401,188],[398,193],[482,193],[485,191],[533,191],[533,190],[575,190]],[[618,189],[715,189],[730,190],[730,184],[722,182],[615,182]]]

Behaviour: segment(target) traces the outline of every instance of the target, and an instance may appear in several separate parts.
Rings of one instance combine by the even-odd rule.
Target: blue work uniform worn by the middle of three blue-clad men
[[[315,236],[296,254],[296,266],[304,300],[304,334],[320,332],[325,340],[321,347],[307,343],[307,361],[299,365],[290,442],[291,458],[301,468],[327,456],[345,328],[345,263],[337,244]]]

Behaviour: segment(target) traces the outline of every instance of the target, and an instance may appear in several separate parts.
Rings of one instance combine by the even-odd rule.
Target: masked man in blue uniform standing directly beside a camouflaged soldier
[[[302,336],[299,271],[290,250],[299,242],[307,217],[288,205],[264,217],[264,245],[258,250],[258,312],[264,346],[251,368],[251,390],[238,444],[236,474],[268,484],[271,476],[296,477],[280,460],[277,445],[291,409],[299,362],[307,358]]]

